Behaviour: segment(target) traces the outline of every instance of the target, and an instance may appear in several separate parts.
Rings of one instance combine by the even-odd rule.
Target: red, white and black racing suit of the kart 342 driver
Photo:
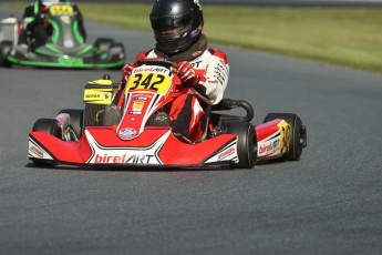
[[[145,58],[165,58],[173,62],[189,61],[199,82],[188,90],[188,93],[176,98],[169,105],[168,118],[175,134],[182,134],[190,141],[202,137],[205,126],[204,106],[217,104],[224,95],[228,83],[229,65],[227,55],[217,49],[207,49],[207,38],[202,37],[186,51],[175,55],[166,55],[157,48],[146,50],[137,55],[137,60]],[[124,69],[125,70],[125,69]],[[124,84],[128,73],[123,71],[121,89],[114,94],[113,102],[123,109]]]

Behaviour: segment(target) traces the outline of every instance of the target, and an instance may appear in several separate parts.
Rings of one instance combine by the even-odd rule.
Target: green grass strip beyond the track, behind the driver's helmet
[[[151,31],[148,4],[80,8],[85,20]],[[204,6],[204,16],[213,42],[382,73],[382,9]]]

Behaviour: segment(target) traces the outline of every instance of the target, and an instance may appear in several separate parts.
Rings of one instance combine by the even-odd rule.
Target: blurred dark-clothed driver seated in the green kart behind
[[[79,16],[79,32],[86,40],[86,31],[83,26],[83,17],[80,9],[71,0],[33,0],[24,10],[19,24],[19,44],[28,44],[34,50],[47,43],[53,33],[52,26],[44,20],[48,8],[56,3],[68,3],[73,7]]]

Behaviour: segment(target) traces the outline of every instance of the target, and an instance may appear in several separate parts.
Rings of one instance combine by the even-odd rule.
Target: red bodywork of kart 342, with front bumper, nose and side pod
[[[29,134],[29,159],[58,164],[134,164],[143,166],[208,166],[237,163],[238,139],[223,133],[190,143],[176,137],[169,126],[147,126],[147,120],[178,93],[179,82],[169,68],[149,65],[133,71],[125,89],[125,110],[117,125],[86,126],[79,141],[52,134]],[[56,118],[60,119],[60,118]],[[61,120],[61,119],[60,119]],[[281,156],[282,120],[256,128],[261,160]],[[281,124],[280,124],[281,123]],[[250,137],[250,141],[251,137]],[[280,142],[281,141],[281,142]]]

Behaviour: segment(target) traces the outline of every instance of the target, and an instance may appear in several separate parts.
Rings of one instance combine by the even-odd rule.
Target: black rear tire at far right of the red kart
[[[307,146],[307,130],[302,125],[301,119],[293,113],[269,113],[265,122],[282,119],[290,125],[289,151],[282,156],[286,161],[297,161],[302,154],[302,149]]]

